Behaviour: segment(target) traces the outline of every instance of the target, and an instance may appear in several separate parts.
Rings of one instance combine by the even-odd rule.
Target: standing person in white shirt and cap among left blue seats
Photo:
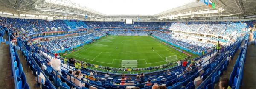
[[[50,62],[48,62],[48,65],[52,65],[52,68],[56,70],[61,75],[61,60],[58,59],[59,56],[55,56],[54,59],[52,59]],[[56,75],[56,73],[54,72]],[[61,76],[58,75],[58,78],[61,78]]]

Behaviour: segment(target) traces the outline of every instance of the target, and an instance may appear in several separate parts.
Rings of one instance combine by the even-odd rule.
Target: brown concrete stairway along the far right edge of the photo
[[[253,38],[250,36],[249,42]],[[244,75],[242,80],[242,85],[240,89],[255,89],[256,87],[256,46],[248,45],[246,53],[246,61],[244,63]]]

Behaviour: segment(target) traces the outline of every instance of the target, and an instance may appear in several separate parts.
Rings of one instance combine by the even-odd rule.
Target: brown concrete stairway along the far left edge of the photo
[[[4,34],[3,39],[8,41],[7,33]],[[10,50],[9,44],[1,44],[0,46],[0,87],[4,89],[14,89],[14,81],[11,77],[11,58],[10,58]]]

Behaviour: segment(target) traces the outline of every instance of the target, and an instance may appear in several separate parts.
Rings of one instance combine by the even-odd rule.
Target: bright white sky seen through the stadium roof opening
[[[52,0],[55,1],[55,0]],[[154,15],[195,0],[71,0],[107,15]]]

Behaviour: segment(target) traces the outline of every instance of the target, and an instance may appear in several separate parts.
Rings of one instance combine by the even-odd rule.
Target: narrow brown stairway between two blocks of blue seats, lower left
[[[18,51],[18,55],[20,58],[20,63],[23,65],[23,72],[26,75],[27,83],[29,84],[30,89],[40,89],[39,87],[35,86],[36,85],[36,77],[32,74],[32,71],[29,68],[29,65],[27,65],[27,61],[25,57],[22,55],[21,51]]]

